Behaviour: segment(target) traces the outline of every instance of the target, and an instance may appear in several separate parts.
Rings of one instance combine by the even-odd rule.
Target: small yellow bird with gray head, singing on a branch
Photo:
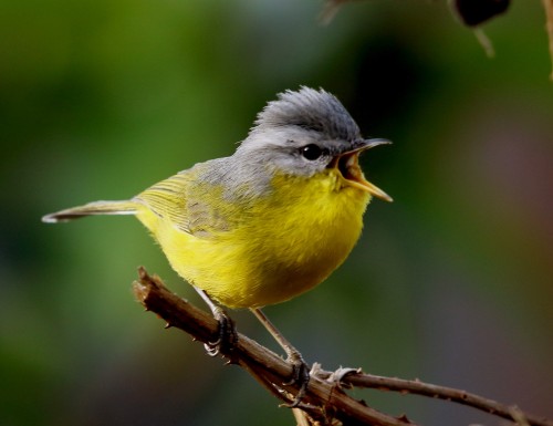
[[[362,152],[383,144],[389,141],[364,139],[334,95],[302,86],[269,102],[233,155],[196,164],[128,200],[90,202],[43,221],[136,216],[222,329],[219,304],[250,309],[305,378],[301,354],[261,308],[324,281],[359,238],[372,196],[392,201],[358,165]]]

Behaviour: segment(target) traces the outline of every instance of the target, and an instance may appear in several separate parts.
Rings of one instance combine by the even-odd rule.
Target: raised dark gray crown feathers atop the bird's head
[[[268,128],[298,126],[324,134],[330,139],[355,141],[359,128],[342,103],[328,92],[302,86],[285,91],[258,114],[250,135]]]

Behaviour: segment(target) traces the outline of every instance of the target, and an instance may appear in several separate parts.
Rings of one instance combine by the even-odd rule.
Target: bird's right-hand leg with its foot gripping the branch
[[[294,401],[288,404],[289,407],[296,407],[307,391],[307,385],[310,382],[310,367],[303,361],[302,354],[288,341],[286,337],[274,326],[274,324],[265,316],[265,314],[259,308],[250,308],[250,311],[258,318],[258,320],[263,324],[263,326],[271,333],[274,340],[282,346],[286,353],[286,361],[292,365],[292,378],[284,385],[291,385],[294,383],[300,384],[300,391],[295,395]]]

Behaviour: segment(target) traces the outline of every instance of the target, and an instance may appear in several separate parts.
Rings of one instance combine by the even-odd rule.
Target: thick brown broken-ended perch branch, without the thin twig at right
[[[204,343],[213,341],[218,335],[217,321],[210,314],[170,292],[158,277],[150,277],[144,268],[139,269],[139,281],[134,282],[133,289],[136,299],[146,310],[163,318],[167,326],[178,328]],[[275,391],[271,393],[286,403],[292,402],[299,392],[296,385],[288,384],[292,376],[290,364],[243,334],[238,334],[238,342],[232,351],[222,352],[221,355],[227,357],[229,363],[247,370],[265,388],[273,386]],[[323,425],[330,425],[332,418],[337,418],[344,424],[414,425],[405,417],[396,418],[367,407],[363,402],[343,393],[336,384],[316,377],[310,380],[307,393],[300,408],[312,417],[317,417],[319,422],[323,419],[324,423],[321,423]]]

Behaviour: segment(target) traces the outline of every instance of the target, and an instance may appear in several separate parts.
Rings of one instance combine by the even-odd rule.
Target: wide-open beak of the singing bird
[[[362,142],[362,145],[356,147],[355,149],[338,155],[333,162],[335,163],[334,166],[340,170],[342,177],[347,181],[348,185],[364,190],[385,201],[392,202],[393,199],[389,195],[365,179],[365,176],[363,176],[363,172],[358,163],[359,154],[362,152],[371,149],[378,145],[389,144],[392,144],[392,142],[388,139],[365,139]]]

